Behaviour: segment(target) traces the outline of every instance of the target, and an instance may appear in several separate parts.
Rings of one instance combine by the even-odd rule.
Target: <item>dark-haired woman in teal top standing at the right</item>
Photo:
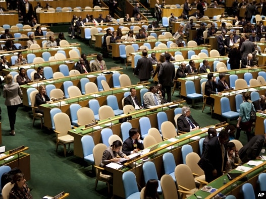
[[[251,138],[250,132],[253,121],[250,120],[250,112],[252,109],[255,111],[255,109],[253,104],[248,101],[249,97],[249,93],[247,92],[244,92],[242,95],[243,103],[240,104],[239,117],[236,125],[236,140],[239,139],[241,130],[246,131],[247,141],[249,141]]]

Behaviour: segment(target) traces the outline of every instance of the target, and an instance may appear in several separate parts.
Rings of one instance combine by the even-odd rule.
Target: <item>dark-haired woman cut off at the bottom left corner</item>
[[[32,199],[30,189],[25,182],[26,179],[23,173],[16,173],[13,176],[11,184],[14,184],[14,187],[9,193],[9,199]]]

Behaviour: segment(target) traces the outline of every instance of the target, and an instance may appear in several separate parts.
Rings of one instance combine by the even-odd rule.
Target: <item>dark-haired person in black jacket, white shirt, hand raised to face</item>
[[[139,150],[143,150],[143,141],[140,140],[139,130],[137,128],[131,128],[129,130],[129,138],[126,139],[122,146],[122,152],[126,155],[138,153]]]

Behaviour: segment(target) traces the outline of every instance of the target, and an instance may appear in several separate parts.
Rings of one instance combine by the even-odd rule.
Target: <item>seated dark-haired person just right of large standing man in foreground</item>
[[[229,142],[227,144],[227,164],[226,164],[226,172],[231,171],[236,168],[235,163],[239,162],[238,149],[233,142]]]

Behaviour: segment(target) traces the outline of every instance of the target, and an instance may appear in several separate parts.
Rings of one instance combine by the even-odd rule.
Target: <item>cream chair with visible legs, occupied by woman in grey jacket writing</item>
[[[110,193],[110,191],[111,191],[110,183],[113,180],[113,176],[103,174],[102,171],[104,171],[104,168],[98,166],[101,163],[102,154],[106,149],[107,149],[106,145],[99,143],[99,144],[95,145],[93,150],[92,150],[93,159],[94,159],[94,163],[95,163],[94,167],[95,167],[95,171],[96,171],[95,189],[97,188],[98,181],[102,181],[102,182],[107,183],[108,193]]]

